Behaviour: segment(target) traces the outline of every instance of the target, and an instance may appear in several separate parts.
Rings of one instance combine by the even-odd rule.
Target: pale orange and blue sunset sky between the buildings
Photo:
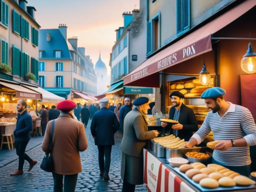
[[[123,12],[139,9],[140,0],[28,0],[36,8],[35,19],[41,29],[66,24],[67,36],[77,36],[93,64],[99,58],[109,69],[110,53],[116,40],[115,29],[124,25]]]

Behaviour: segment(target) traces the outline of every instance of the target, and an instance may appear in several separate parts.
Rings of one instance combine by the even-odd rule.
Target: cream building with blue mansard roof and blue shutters
[[[39,35],[39,85],[66,99],[73,92],[97,94],[97,76],[78,38],[67,38],[67,26],[41,29]]]

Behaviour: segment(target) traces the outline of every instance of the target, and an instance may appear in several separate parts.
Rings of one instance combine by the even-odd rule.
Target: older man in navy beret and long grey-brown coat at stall
[[[147,140],[158,135],[157,131],[148,131],[144,114],[147,114],[149,108],[148,98],[139,97],[133,102],[133,110],[124,119],[124,134],[120,146],[123,192],[133,192],[135,185],[144,183],[143,147]]]

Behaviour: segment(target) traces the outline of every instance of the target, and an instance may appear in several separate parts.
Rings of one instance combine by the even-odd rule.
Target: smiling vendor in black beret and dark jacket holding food
[[[176,137],[188,141],[193,132],[198,130],[196,115],[192,109],[182,103],[184,94],[179,91],[173,91],[169,97],[171,98],[173,107],[169,111],[169,119],[178,121],[178,124],[161,122],[162,127],[167,127],[170,133]]]

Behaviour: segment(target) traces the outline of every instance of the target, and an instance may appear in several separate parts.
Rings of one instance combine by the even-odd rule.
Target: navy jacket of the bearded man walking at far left
[[[30,140],[30,131],[33,130],[33,121],[31,115],[24,111],[21,115],[18,113],[14,137],[16,142],[28,142]]]

